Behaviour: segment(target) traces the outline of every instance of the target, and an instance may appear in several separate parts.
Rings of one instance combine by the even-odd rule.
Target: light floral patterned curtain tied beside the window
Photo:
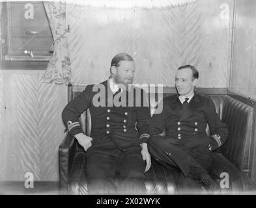
[[[71,67],[66,40],[66,3],[65,1],[43,1],[53,34],[54,51],[46,72],[44,83],[68,84]]]

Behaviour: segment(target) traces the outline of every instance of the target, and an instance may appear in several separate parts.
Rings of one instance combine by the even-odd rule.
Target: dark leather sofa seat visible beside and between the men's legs
[[[70,178],[68,180],[68,191],[70,194],[88,194],[87,180],[85,175],[86,157],[85,152],[78,152],[73,161]],[[228,175],[227,175],[227,174]],[[146,172],[145,185],[147,194],[177,194],[180,170],[167,166],[152,159],[149,171]],[[250,192],[255,190],[255,185],[244,172],[221,153],[213,154],[212,168],[210,174],[220,185],[223,193]],[[225,180],[222,181],[221,180]]]

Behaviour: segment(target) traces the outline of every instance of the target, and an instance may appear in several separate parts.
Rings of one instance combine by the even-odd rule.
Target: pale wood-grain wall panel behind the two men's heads
[[[135,83],[174,86],[182,64],[199,69],[199,86],[227,87],[231,0],[197,0],[165,8],[69,5],[68,47],[76,84],[109,77],[112,57],[132,55]]]

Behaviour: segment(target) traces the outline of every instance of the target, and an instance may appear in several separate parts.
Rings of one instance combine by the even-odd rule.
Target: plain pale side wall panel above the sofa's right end
[[[236,0],[231,88],[256,100],[256,1]]]

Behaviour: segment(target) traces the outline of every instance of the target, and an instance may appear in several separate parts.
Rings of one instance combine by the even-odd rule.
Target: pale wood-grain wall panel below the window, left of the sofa
[[[0,181],[58,181],[61,112],[67,87],[42,82],[44,71],[0,71]]]

